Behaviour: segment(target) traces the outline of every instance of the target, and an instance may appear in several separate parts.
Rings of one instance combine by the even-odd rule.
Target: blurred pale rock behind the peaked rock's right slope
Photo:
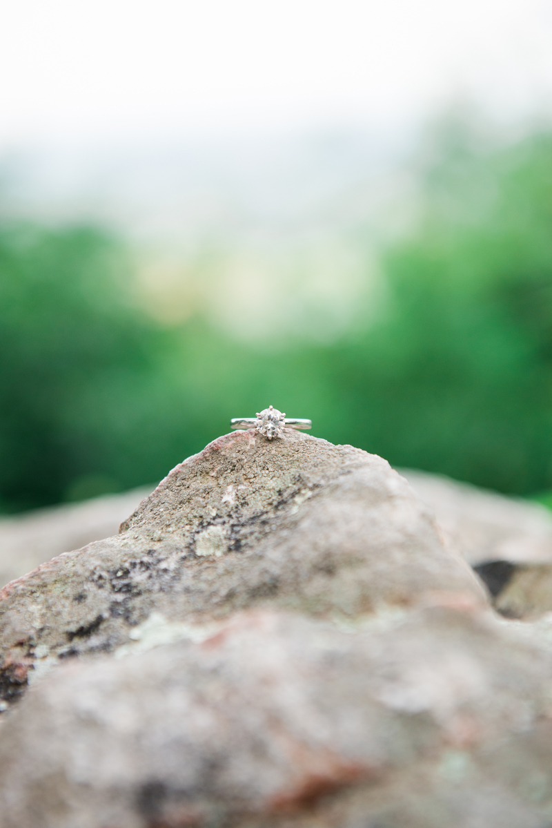
[[[490,561],[552,563],[552,513],[439,474],[399,469],[430,507],[447,544],[472,566]]]

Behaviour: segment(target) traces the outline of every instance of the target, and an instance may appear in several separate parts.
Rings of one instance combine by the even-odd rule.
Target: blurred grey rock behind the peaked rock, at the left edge
[[[119,523],[151,489],[132,489],[84,503],[73,503],[0,519],[0,588],[50,561],[116,534]]]

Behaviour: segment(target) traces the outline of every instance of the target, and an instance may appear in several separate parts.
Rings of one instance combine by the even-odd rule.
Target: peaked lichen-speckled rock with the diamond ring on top
[[[176,466],[118,537],[0,592],[0,698],[58,658],[120,647],[152,612],[219,619],[258,604],[354,617],[439,590],[487,595],[376,455],[287,430],[220,437]]]

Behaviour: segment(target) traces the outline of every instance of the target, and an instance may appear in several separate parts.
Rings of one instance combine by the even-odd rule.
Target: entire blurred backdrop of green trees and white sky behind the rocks
[[[270,403],[552,489],[552,2],[0,2],[0,511]]]

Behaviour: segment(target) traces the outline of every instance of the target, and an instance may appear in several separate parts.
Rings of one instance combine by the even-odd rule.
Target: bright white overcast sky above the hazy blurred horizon
[[[0,149],[552,100],[551,0],[0,0]]]

